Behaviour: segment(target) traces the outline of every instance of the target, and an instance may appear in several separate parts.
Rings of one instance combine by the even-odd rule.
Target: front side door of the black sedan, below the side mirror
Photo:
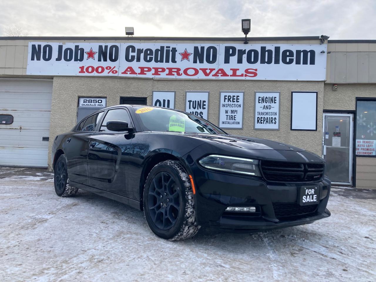
[[[133,127],[127,109],[108,110],[97,132],[89,138],[89,185],[128,197],[129,150],[133,133],[108,130],[106,123],[109,120],[127,121]]]

